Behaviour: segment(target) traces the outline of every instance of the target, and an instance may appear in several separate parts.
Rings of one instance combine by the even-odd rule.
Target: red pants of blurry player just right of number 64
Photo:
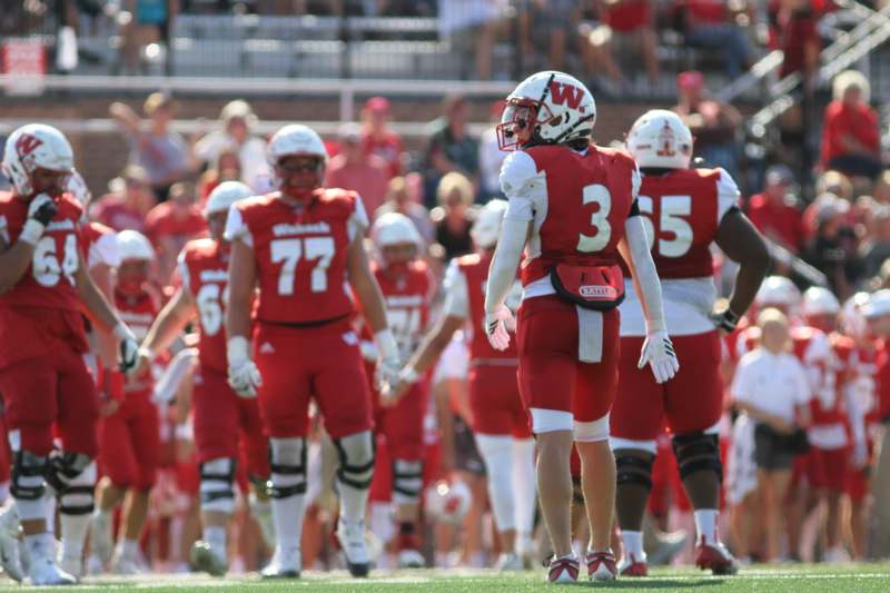
[[[150,392],[130,393],[100,423],[102,474],[119,488],[150,490],[160,463],[160,422]]]

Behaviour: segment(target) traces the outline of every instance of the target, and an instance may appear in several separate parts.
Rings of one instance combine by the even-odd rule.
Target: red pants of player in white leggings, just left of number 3
[[[476,365],[469,367],[469,409],[473,432],[528,438],[532,429],[522,404],[516,367]]]

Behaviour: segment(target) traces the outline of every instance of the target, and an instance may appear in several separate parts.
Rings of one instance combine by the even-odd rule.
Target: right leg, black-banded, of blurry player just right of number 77
[[[425,565],[421,554],[421,492],[424,475],[424,414],[428,387],[416,384],[384,416],[384,434],[392,457],[393,503],[398,535],[399,567]]]

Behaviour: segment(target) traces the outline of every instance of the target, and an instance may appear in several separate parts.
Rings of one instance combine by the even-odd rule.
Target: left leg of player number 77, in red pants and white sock
[[[258,389],[260,415],[269,435],[270,495],[275,554],[265,577],[297,577],[303,569],[300,537],[306,498],[306,434],[309,376],[305,332],[260,326],[256,363],[263,376]],[[313,345],[316,347],[316,345]]]

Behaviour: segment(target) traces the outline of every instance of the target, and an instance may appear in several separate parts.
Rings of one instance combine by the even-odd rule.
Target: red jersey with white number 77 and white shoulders
[[[346,278],[349,243],[367,228],[355,191],[319,189],[307,206],[276,194],[239,201],[226,236],[253,245],[259,284],[257,319],[305,324],[355,310]]]

